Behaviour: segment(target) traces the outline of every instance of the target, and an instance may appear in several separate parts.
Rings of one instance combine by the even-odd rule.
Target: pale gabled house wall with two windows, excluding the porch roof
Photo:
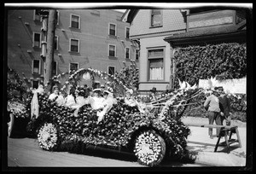
[[[131,22],[131,39],[140,42],[139,90],[166,90],[172,72],[172,47],[164,38],[186,31],[179,9],[140,9]]]

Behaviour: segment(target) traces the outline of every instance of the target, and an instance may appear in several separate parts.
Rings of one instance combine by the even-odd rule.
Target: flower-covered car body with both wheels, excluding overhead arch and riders
[[[190,91],[190,96],[195,92]],[[90,104],[80,107],[78,116],[74,116],[74,109],[57,106],[47,95],[38,95],[38,119],[42,121],[38,130],[39,146],[77,153],[87,145],[125,150],[134,154],[140,164],[148,166],[160,165],[165,156],[182,159],[188,153],[189,128],[180,118],[184,107],[170,110],[171,104],[178,104],[177,94],[182,96],[183,92],[176,92],[173,100],[169,97],[165,102],[169,105],[162,107],[160,113],[142,113],[120,97],[99,123],[98,110],[93,110]]]

